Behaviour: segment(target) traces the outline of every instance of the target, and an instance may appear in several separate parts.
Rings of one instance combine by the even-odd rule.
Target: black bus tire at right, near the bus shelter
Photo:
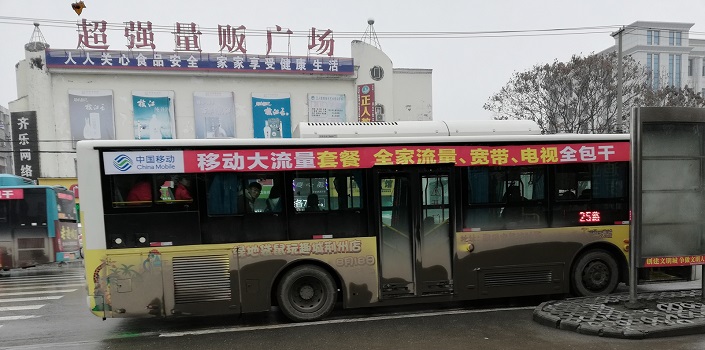
[[[619,266],[604,250],[587,251],[573,265],[571,282],[576,296],[609,294],[619,284]]]

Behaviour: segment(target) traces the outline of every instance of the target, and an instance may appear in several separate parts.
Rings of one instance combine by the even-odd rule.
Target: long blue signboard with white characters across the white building
[[[352,75],[352,58],[198,52],[46,50],[48,68]]]

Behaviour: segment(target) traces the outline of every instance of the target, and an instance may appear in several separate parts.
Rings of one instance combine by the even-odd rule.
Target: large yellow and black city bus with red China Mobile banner
[[[312,321],[628,280],[629,135],[419,123],[79,141],[90,310]]]

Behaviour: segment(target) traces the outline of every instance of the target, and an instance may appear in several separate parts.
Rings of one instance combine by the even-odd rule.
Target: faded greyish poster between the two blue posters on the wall
[[[235,137],[235,94],[194,92],[193,115],[197,139]]]

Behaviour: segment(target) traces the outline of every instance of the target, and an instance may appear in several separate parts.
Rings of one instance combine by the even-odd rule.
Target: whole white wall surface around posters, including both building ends
[[[30,67],[30,59],[44,52],[27,52],[19,62],[17,90],[20,98],[10,103],[11,112],[36,111],[42,178],[75,177],[75,150],[71,142],[69,90],[111,90],[115,135],[133,139],[132,91],[173,91],[177,138],[194,138],[194,92],[233,92],[235,134],[252,138],[252,93],[288,93],[291,96],[292,129],[308,121],[308,94],[344,94],[346,119],[357,121],[357,86],[375,84],[376,103],[385,107],[387,121],[431,120],[431,70],[394,69],[392,60],[378,48],[352,42],[356,72],[349,76],[227,74],[213,72],[160,72],[77,70]],[[44,59],[46,62],[46,59]],[[370,69],[381,66],[385,76],[373,80]],[[399,110],[400,113],[396,113]]]

